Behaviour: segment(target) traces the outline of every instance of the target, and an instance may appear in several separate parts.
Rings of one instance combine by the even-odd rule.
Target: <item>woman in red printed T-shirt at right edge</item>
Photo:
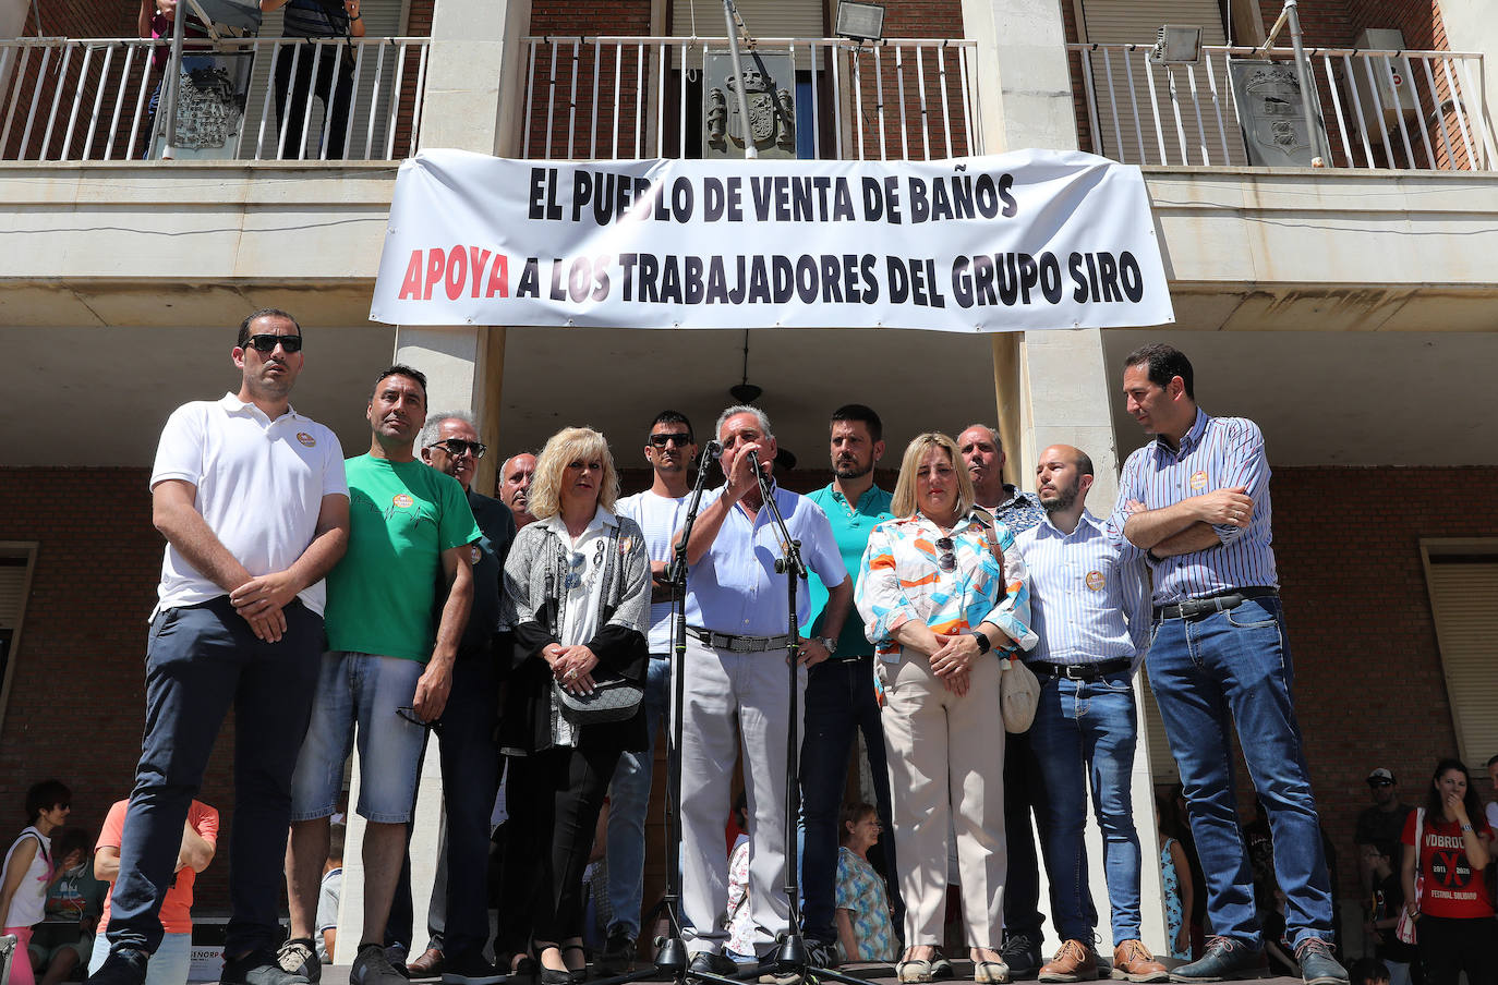
[[[1494,832],[1461,760],[1435,765],[1423,814],[1423,823],[1419,811],[1405,822],[1404,889],[1405,906],[1419,921],[1426,985],[1456,985],[1461,972],[1467,972],[1470,985],[1498,985],[1498,949],[1492,943],[1498,928],[1483,880]],[[1425,876],[1419,901],[1417,868]]]

